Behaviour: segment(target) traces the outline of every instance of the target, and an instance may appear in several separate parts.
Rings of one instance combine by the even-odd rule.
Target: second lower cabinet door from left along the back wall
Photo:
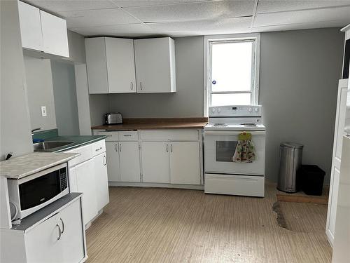
[[[139,142],[119,142],[120,179],[140,182]]]

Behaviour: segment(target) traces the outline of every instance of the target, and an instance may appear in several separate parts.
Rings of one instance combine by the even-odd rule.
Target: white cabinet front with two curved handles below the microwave
[[[25,233],[24,242],[25,262],[81,262],[85,258],[85,234],[80,198]],[[18,243],[18,249],[21,245]]]

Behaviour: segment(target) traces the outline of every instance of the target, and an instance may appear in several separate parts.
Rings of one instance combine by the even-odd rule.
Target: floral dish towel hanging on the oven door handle
[[[251,163],[255,160],[255,147],[251,141],[251,133],[240,133],[238,135],[237,147],[232,161],[235,163]]]

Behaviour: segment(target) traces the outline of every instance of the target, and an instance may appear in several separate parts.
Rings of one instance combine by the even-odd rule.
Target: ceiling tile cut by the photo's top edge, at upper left
[[[28,2],[55,13],[59,11],[116,8],[116,4],[109,0],[29,0]]]

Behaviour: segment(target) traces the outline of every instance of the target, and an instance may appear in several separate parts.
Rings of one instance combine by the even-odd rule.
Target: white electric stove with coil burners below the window
[[[260,105],[209,107],[204,127],[204,192],[239,196],[264,196],[265,126]],[[232,161],[238,135],[249,132],[255,146],[255,161]]]

